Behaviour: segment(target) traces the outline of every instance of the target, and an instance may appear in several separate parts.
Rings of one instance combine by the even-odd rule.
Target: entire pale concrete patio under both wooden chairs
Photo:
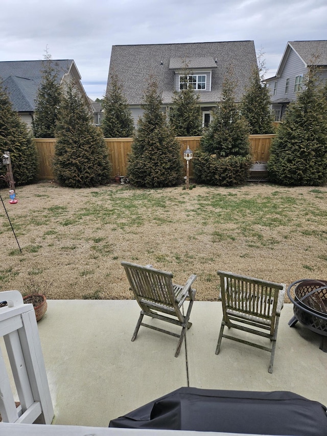
[[[107,427],[111,419],[188,385],[292,391],[327,405],[327,353],[319,350],[318,335],[299,323],[288,326],[292,314],[293,305],[286,304],[269,374],[266,351],[223,339],[215,354],[219,302],[194,303],[192,328],[175,358],[173,336],[141,327],[131,342],[139,315],[133,300],[50,300],[38,329],[53,424]]]

